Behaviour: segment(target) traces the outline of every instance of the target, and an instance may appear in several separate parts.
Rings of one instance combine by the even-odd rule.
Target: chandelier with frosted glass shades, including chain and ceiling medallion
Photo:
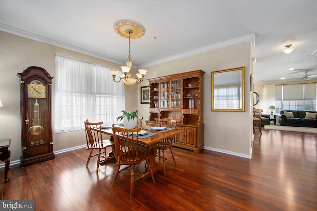
[[[139,69],[139,73],[136,74],[136,77],[132,77],[129,73],[132,67],[131,60],[131,38],[137,39],[144,35],[145,28],[133,20],[118,20],[113,25],[114,31],[124,38],[129,38],[129,54],[126,66],[121,66],[122,73],[119,74],[119,70],[110,70],[114,82],[120,82],[121,80],[126,85],[133,85],[135,83],[140,84],[143,81],[145,74],[147,73],[146,69]],[[115,80],[116,76],[119,74],[119,80]]]

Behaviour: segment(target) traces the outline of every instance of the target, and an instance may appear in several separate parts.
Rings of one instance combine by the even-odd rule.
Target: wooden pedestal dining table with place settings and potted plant
[[[123,126],[115,125],[115,127],[123,127]],[[148,125],[142,126],[141,131],[147,131],[148,133],[148,135],[145,135],[144,137],[139,135],[138,140],[141,142],[141,144],[146,145],[146,151],[150,154],[149,163],[150,163],[152,172],[154,174],[162,169],[162,166],[159,165],[155,160],[156,154],[157,154],[157,143],[161,140],[164,140],[172,136],[175,136],[176,138],[176,135],[182,133],[183,131],[181,129],[171,129],[171,128],[157,131],[152,129],[152,127]],[[113,140],[113,132],[111,128],[101,129],[101,132],[106,135],[109,135],[110,140],[111,139]]]

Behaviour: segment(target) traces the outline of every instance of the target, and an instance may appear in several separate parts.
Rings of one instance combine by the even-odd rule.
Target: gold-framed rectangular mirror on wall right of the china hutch
[[[211,111],[244,112],[244,67],[211,73]]]

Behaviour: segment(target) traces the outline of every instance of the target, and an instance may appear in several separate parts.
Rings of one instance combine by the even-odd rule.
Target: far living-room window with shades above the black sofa
[[[292,84],[275,87],[276,113],[280,110],[316,111],[316,84]]]

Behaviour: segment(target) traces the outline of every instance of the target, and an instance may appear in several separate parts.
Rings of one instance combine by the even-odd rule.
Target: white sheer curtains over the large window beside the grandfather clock
[[[124,109],[124,84],[109,68],[56,55],[55,132],[80,130],[84,121],[112,124]]]

